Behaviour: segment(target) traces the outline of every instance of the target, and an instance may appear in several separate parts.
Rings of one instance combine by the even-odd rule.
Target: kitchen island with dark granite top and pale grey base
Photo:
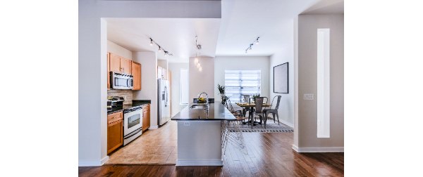
[[[178,122],[176,166],[223,166],[221,122],[235,120],[226,107],[191,103],[172,120]]]

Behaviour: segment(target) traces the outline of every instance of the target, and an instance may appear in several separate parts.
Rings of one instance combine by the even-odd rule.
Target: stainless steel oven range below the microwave
[[[123,110],[123,145],[130,143],[142,133],[142,106]]]

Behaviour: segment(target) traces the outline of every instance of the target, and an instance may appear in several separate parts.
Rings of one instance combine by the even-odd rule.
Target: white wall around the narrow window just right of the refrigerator
[[[188,63],[169,63],[168,70],[172,72],[171,85],[171,116],[178,114],[187,105],[180,104],[180,69],[188,70]]]

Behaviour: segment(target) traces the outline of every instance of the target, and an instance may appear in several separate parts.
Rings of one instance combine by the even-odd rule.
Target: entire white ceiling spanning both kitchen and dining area
[[[293,44],[293,19],[317,1],[223,0],[221,19],[108,18],[108,39],[130,51],[157,51],[149,46],[152,37],[173,53],[159,53],[158,58],[171,63],[188,63],[196,55],[195,35],[202,44],[201,55],[269,56]],[[257,37],[259,44],[245,54]]]

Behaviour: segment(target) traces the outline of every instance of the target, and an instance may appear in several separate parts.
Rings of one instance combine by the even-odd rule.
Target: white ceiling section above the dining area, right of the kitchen
[[[294,35],[295,16],[315,1],[223,0],[216,55],[269,56],[281,51],[287,45],[286,40],[292,40]],[[260,37],[259,44],[245,54],[245,49],[257,37]]]

